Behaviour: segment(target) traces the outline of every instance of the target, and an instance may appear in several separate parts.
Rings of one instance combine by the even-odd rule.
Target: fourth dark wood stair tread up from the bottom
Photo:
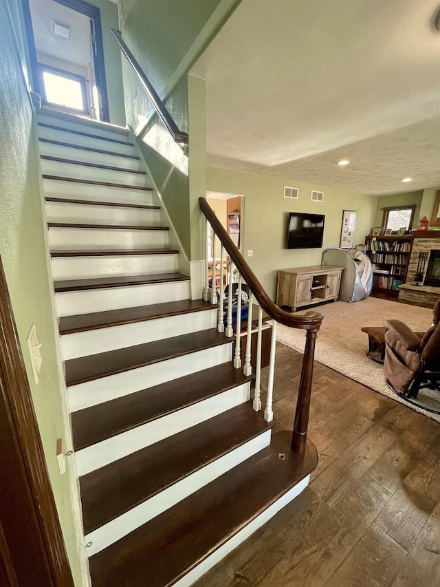
[[[217,332],[217,328],[208,328],[179,337],[69,359],[65,361],[66,383],[78,385],[227,343],[232,343],[232,339]]]

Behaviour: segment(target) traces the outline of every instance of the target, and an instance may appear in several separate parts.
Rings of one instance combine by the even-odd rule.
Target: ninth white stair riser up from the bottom
[[[47,222],[160,226],[160,210],[46,202]]]

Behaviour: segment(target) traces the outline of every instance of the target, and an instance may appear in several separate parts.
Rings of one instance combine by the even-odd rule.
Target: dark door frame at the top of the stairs
[[[109,115],[109,97],[107,95],[107,81],[105,76],[105,66],[104,66],[104,45],[102,43],[102,27],[101,27],[101,12],[100,9],[96,6],[92,6],[91,4],[85,2],[84,0],[53,0],[54,2],[65,6],[66,8],[70,8],[75,10],[75,12],[80,12],[84,14],[86,17],[89,17],[91,20],[92,27],[94,28],[94,38],[92,34],[92,43],[94,43],[94,69],[95,69],[95,78],[96,78],[96,86],[98,87],[98,94],[100,104],[98,105],[100,109],[100,120],[102,122],[110,122],[110,115]],[[28,47],[29,47],[29,58],[30,58],[30,67],[31,67],[31,75],[30,78],[32,80],[32,89],[40,96],[42,94],[41,82],[39,78],[39,66],[38,60],[36,58],[36,47],[35,47],[35,39],[34,39],[34,30],[32,28],[32,17],[30,14],[30,3],[29,0],[22,0],[23,6],[23,20],[25,23],[25,30],[26,36],[28,37]]]

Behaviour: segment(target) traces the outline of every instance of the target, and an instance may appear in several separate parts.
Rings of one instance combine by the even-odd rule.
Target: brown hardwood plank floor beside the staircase
[[[277,344],[274,431],[300,361]],[[196,587],[438,587],[440,424],[315,363],[309,438],[309,487]]]

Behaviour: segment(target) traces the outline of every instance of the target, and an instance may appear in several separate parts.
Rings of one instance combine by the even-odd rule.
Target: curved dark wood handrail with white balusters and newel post
[[[224,332],[228,338],[233,337],[234,332],[232,328],[232,288],[234,284],[234,268],[238,271],[237,283],[237,307],[236,307],[236,343],[234,352],[234,367],[241,369],[241,290],[242,285],[246,284],[250,290],[249,310],[248,310],[248,328],[246,336],[246,348],[244,357],[243,372],[249,376],[252,372],[251,367],[251,336],[252,336],[252,303],[254,299],[259,304],[258,317],[258,333],[256,346],[256,373],[255,373],[255,389],[253,407],[256,411],[261,409],[261,339],[262,339],[262,323],[263,310],[268,314],[269,319],[272,319],[272,338],[270,344],[270,363],[269,363],[269,383],[267,385],[267,399],[264,417],[267,422],[274,418],[272,411],[273,403],[273,389],[274,389],[274,367],[275,367],[275,343],[276,343],[276,323],[279,322],[291,328],[302,328],[305,330],[305,349],[303,356],[303,364],[301,367],[300,384],[298,389],[298,400],[296,403],[296,412],[294,418],[294,430],[292,434],[292,450],[297,453],[305,453],[307,442],[307,427],[309,425],[309,409],[311,398],[311,382],[313,377],[313,363],[315,354],[315,341],[318,330],[322,322],[322,314],[318,312],[305,312],[304,314],[297,314],[285,312],[278,308],[276,304],[270,299],[265,292],[263,286],[256,278],[256,275],[245,262],[243,255],[232,242],[232,239],[225,231],[221,222],[212,211],[206,198],[199,198],[200,209],[206,217],[206,255],[205,255],[205,286],[203,289],[203,299],[210,301],[210,303],[217,303],[217,287],[216,287],[216,260],[215,260],[215,245],[216,238],[220,242],[220,269],[219,269],[219,314],[217,322],[217,330]],[[210,238],[209,238],[210,237]],[[208,250],[209,249],[209,250]],[[209,257],[212,251],[212,280],[209,282]],[[224,286],[223,277],[226,272],[224,266],[225,251],[230,257],[229,275],[228,275],[228,310],[226,312],[226,325],[223,324],[224,312]]]

